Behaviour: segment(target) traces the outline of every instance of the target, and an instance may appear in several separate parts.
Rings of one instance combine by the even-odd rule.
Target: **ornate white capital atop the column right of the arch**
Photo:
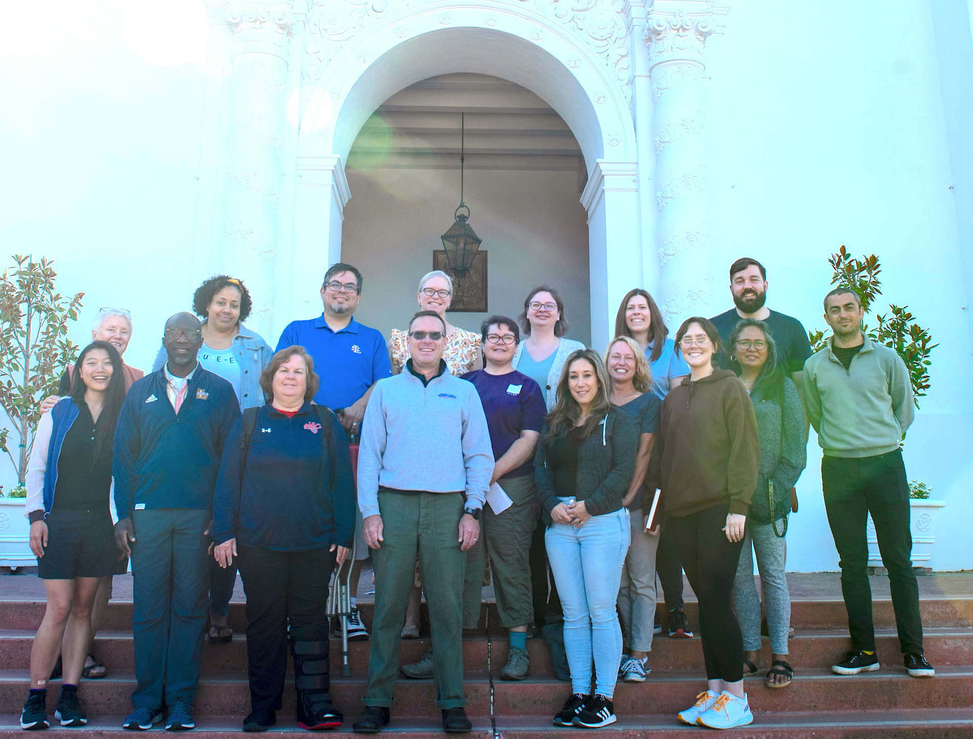
[[[715,5],[715,0],[654,0],[642,32],[649,64],[695,61],[704,68],[706,39],[723,31],[729,12]]]

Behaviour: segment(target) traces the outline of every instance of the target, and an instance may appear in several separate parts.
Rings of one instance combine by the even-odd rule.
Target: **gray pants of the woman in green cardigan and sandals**
[[[783,521],[777,522],[777,530]],[[751,542],[753,545],[751,546]],[[771,633],[771,650],[775,654],[787,653],[787,631],[790,628],[790,594],[784,577],[786,545],[777,537],[769,523],[746,522],[746,535],[739,553],[737,577],[733,583],[733,599],[737,606],[739,630],[743,635],[743,649],[760,649],[760,596],[753,581],[753,554],[757,552],[757,568],[760,570],[760,589],[767,606],[767,629]]]

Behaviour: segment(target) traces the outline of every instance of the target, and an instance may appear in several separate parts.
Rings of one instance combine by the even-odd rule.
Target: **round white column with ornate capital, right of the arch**
[[[712,313],[703,71],[706,38],[726,13],[711,0],[655,0],[643,34],[654,101],[659,306],[672,332],[691,315]]]

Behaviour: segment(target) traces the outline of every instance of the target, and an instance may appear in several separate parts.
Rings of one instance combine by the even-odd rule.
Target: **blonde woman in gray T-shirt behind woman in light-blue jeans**
[[[628,414],[638,438],[635,473],[622,499],[622,505],[629,509],[631,545],[618,591],[618,611],[625,627],[619,676],[626,683],[644,683],[651,671],[648,653],[652,651],[656,618],[656,550],[659,547],[659,526],[651,531],[647,528],[655,491],[646,490],[644,482],[663,402],[651,392],[652,370],[631,336],[612,339],[605,350],[605,365],[611,381],[611,404]]]

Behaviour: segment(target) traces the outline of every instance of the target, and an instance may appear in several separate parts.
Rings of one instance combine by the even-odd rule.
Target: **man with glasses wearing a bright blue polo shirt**
[[[317,318],[288,324],[280,334],[276,349],[280,351],[297,344],[307,350],[314,359],[314,371],[321,378],[314,403],[334,410],[349,437],[359,435],[375,383],[392,376],[384,337],[353,318],[362,297],[362,282],[362,273],[351,264],[332,264],[324,273],[321,285],[324,312]],[[359,511],[355,520],[355,561],[349,565],[352,597],[348,639],[353,642],[368,639],[356,603],[362,563],[368,556]],[[344,576],[342,573],[342,579]]]

